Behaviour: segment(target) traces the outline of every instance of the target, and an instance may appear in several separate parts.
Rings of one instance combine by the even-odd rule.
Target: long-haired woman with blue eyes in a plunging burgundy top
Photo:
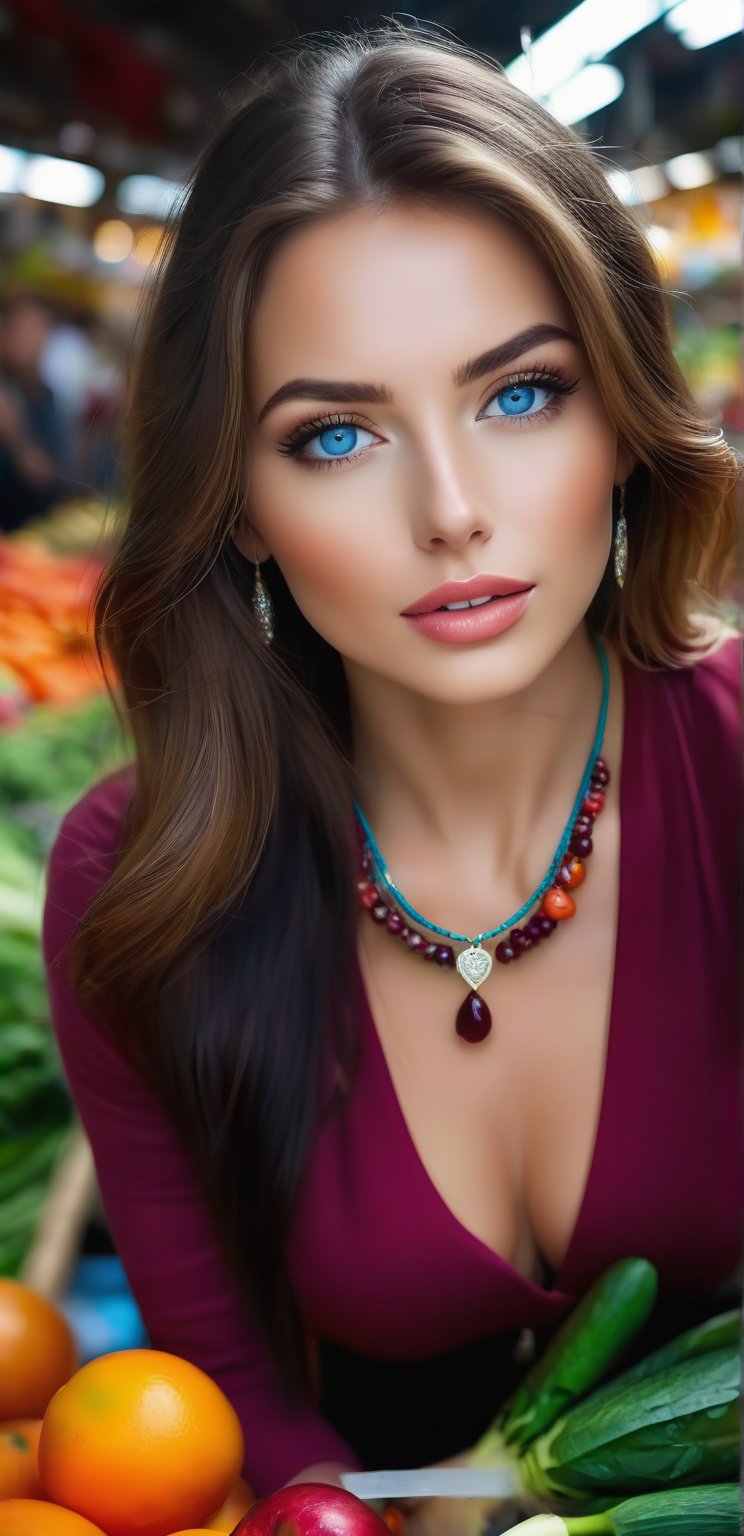
[[[735,462],[592,154],[390,23],[206,152],[129,473],[46,919],[112,1233],[260,1493],[457,1456],[615,1258],[736,1270]]]

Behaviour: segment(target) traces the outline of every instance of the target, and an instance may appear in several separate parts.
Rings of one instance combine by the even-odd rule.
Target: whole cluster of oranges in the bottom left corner
[[[77,1369],[60,1309],[0,1281],[0,1536],[228,1533],[254,1504],[241,1464],[203,1370],[151,1349]]]

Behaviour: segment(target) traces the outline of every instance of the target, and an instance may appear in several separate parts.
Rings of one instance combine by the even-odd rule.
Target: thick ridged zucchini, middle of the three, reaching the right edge
[[[735,1478],[739,1459],[739,1353],[735,1346],[593,1395],[520,1459],[541,1499],[653,1490]]]

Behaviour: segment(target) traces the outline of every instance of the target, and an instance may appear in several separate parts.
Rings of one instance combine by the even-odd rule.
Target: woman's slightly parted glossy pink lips
[[[469,581],[450,581],[435,587],[426,598],[406,608],[403,617],[432,641],[469,645],[510,630],[512,624],[521,619],[533,590],[533,584],[513,581],[509,576],[472,576]],[[472,602],[477,598],[492,601],[478,604],[477,608],[455,611],[444,608],[447,602]]]

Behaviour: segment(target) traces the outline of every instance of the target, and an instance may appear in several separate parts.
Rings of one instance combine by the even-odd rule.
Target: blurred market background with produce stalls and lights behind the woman
[[[704,415],[744,453],[741,0],[409,0],[593,146],[658,253]],[[134,316],[164,223],[271,45],[340,0],[0,0],[0,1275],[63,1304],[83,1358],[143,1339],[48,1028],[43,866],[126,745],[89,598],[125,498]],[[739,562],[744,564],[744,561]],[[744,607],[741,568],[726,601]]]

